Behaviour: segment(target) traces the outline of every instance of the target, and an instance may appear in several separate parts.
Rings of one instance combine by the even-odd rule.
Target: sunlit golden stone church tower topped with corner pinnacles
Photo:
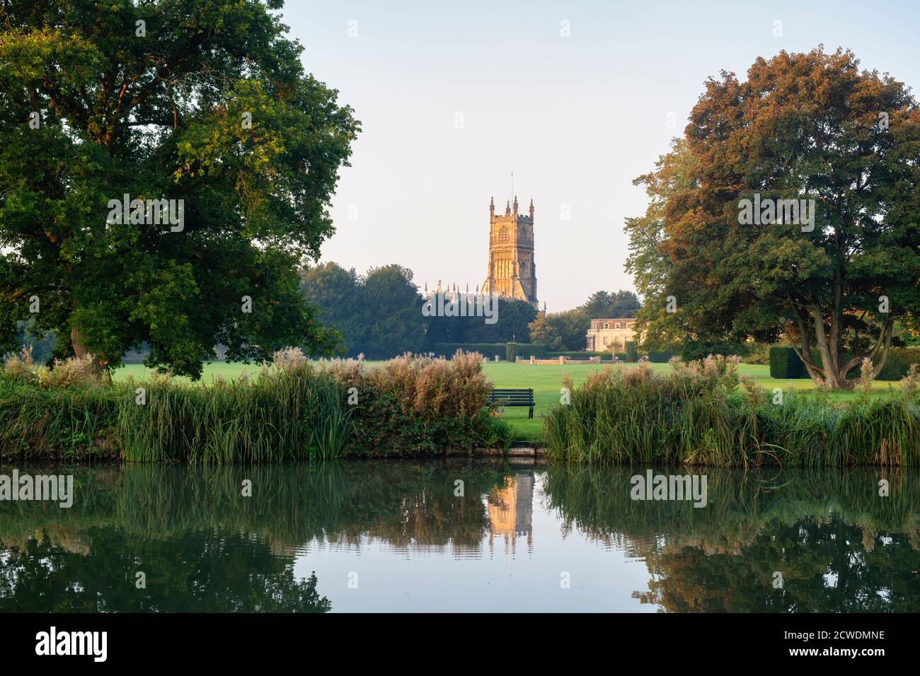
[[[527,216],[518,214],[517,197],[496,215],[495,198],[489,204],[489,276],[482,292],[517,298],[538,307],[534,264],[534,201]]]

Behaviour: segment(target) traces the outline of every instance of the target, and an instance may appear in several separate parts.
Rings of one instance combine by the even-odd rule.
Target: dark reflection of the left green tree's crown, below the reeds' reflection
[[[316,575],[295,579],[293,565],[245,533],[188,532],[168,548],[112,526],[85,533],[88,551],[40,540],[0,557],[0,612],[327,613]],[[145,574],[145,588],[136,574]]]

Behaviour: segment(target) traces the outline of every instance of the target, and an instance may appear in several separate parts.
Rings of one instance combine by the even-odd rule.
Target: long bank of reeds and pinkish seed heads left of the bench
[[[288,348],[251,382],[215,379],[210,387],[154,371],[144,383],[81,388],[84,361],[59,365],[62,386],[54,387],[39,383],[25,356],[7,363],[5,456],[226,464],[442,453],[507,446],[512,436],[507,422],[489,415],[491,385],[472,352],[452,361],[405,355],[365,371],[362,360],[310,362]]]

